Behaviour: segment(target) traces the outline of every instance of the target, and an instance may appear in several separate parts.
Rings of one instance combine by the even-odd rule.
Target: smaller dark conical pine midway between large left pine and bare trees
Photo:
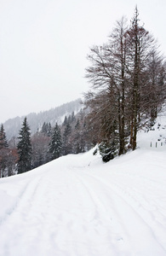
[[[49,143],[49,154],[50,154],[51,160],[54,160],[60,157],[61,147],[62,147],[62,142],[61,142],[61,135],[60,135],[60,127],[56,123],[51,136],[51,141]]]

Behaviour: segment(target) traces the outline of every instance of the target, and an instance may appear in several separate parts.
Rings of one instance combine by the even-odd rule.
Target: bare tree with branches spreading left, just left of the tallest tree
[[[102,47],[95,46],[91,49],[89,61],[92,66],[86,70],[86,77],[95,90],[86,95],[86,103],[93,109],[91,114],[93,119],[100,123],[100,137],[110,140],[113,135],[112,127],[117,122],[118,154],[123,154],[125,151],[127,31],[127,22],[123,17],[122,20],[117,21],[109,42]]]

